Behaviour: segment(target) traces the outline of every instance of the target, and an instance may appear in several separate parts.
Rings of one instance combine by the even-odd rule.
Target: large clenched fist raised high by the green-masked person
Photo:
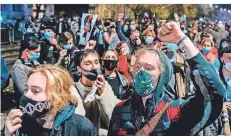
[[[181,31],[176,22],[166,23],[159,29],[158,38],[162,42],[177,44],[185,34]]]

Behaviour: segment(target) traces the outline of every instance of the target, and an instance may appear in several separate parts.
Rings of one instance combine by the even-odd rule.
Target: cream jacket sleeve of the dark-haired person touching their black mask
[[[108,120],[110,120],[112,111],[114,107],[121,102],[121,100],[117,99],[114,92],[112,91],[111,86],[105,81],[105,88],[103,93],[98,96],[96,95],[96,98],[99,100],[100,104],[102,105]]]

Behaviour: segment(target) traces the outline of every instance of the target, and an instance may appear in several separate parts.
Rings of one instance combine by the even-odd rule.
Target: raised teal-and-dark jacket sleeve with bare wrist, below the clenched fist
[[[184,127],[184,132],[196,135],[220,115],[226,89],[215,68],[196,50],[189,38],[179,47],[188,59],[196,90],[195,96],[181,101],[180,118],[172,125],[169,133],[173,130],[180,131],[180,128]]]

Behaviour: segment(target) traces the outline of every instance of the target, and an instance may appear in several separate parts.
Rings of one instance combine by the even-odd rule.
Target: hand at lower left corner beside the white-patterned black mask
[[[13,136],[15,131],[22,127],[22,111],[13,109],[9,112],[5,123],[5,135]]]

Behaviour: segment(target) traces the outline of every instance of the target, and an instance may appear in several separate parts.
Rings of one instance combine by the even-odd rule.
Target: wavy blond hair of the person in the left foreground
[[[77,106],[77,99],[72,96],[70,91],[74,82],[67,70],[49,64],[40,65],[30,71],[28,77],[37,72],[47,78],[46,93],[51,103],[49,113],[52,117],[55,117],[57,112],[62,110],[69,103]]]

